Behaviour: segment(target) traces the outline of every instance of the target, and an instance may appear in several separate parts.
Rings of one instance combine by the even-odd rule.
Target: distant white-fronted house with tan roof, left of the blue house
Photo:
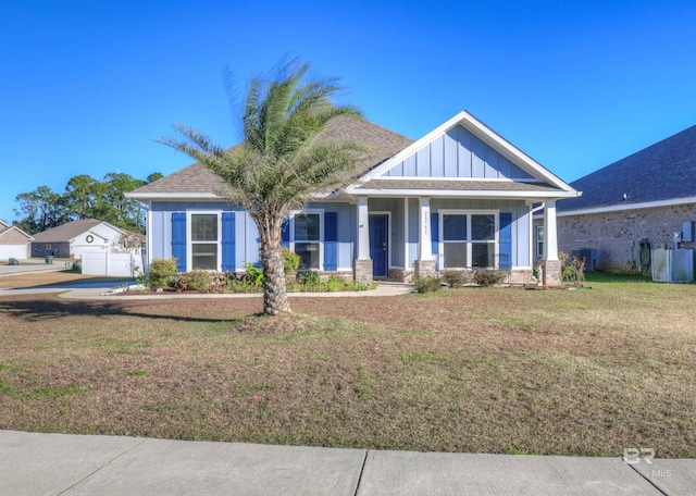
[[[52,255],[79,259],[85,252],[105,251],[121,245],[126,231],[96,219],[80,219],[34,235],[32,257]]]

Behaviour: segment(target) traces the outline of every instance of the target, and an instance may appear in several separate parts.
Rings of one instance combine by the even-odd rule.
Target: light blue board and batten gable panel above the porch
[[[534,178],[461,125],[424,145],[382,177]]]

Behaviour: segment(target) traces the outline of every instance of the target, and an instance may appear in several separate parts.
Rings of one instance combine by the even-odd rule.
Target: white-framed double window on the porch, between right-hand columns
[[[495,213],[443,214],[445,269],[494,268],[496,225]]]

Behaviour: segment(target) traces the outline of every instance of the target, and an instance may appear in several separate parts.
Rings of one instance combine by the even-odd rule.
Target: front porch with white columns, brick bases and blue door
[[[556,202],[544,203],[546,232],[542,284],[560,285]],[[446,271],[501,270],[511,285],[527,285],[534,271],[532,203],[462,198],[357,199],[352,276],[365,284],[409,283]]]

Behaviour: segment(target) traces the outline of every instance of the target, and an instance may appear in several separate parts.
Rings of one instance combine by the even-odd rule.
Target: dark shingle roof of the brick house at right
[[[571,186],[583,195],[560,201],[559,211],[696,197],[696,126],[581,177]]]

